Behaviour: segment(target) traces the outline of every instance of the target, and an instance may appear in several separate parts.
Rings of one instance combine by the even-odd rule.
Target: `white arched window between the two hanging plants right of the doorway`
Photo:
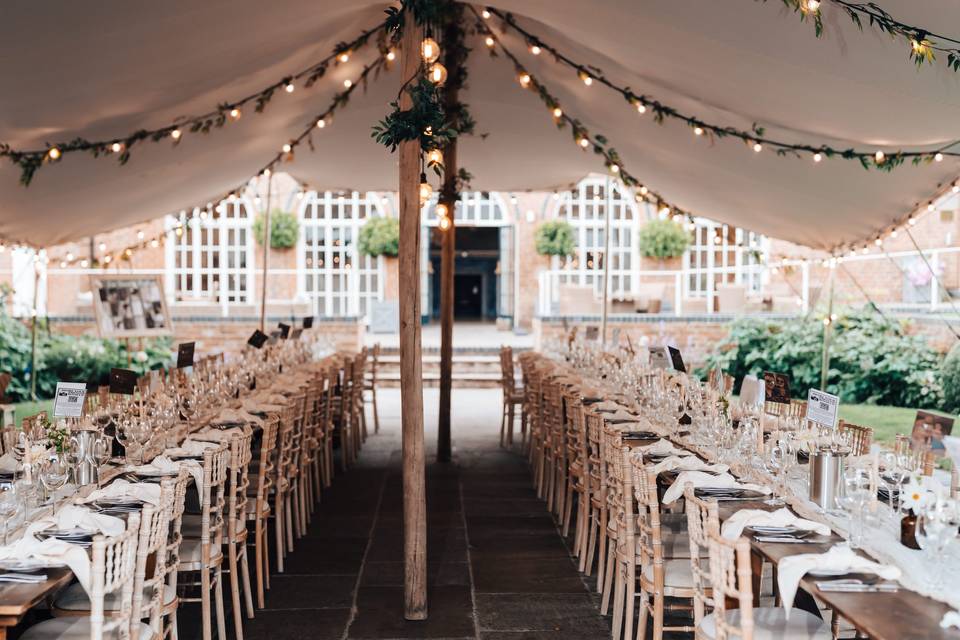
[[[603,286],[603,260],[607,214],[610,220],[610,292],[622,295],[637,284],[633,273],[639,268],[637,232],[640,209],[630,192],[609,177],[593,176],[581,180],[571,190],[559,194],[557,217],[574,228],[576,255],[568,263],[563,283],[592,285],[599,293]],[[559,267],[559,260],[556,267]]]

